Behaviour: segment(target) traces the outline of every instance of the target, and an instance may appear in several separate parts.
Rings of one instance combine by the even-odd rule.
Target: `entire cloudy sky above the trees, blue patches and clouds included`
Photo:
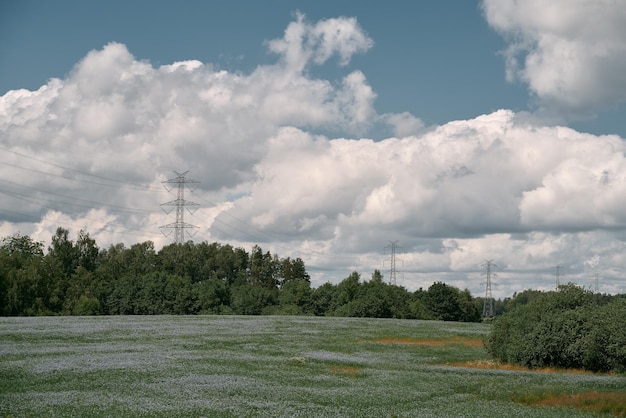
[[[6,0],[0,236],[158,250],[187,173],[186,239],[313,286],[624,293],[625,111],[618,0]]]

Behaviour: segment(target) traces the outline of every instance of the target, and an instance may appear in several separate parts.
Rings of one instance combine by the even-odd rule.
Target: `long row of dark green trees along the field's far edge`
[[[0,314],[318,315],[480,321],[482,300],[442,282],[410,292],[352,272],[311,287],[300,258],[261,247],[151,241],[100,249],[88,233],[57,228],[44,245],[26,235],[0,241]]]

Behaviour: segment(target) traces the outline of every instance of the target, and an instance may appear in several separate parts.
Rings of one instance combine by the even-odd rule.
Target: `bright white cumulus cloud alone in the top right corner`
[[[544,111],[575,117],[626,100],[626,8],[621,1],[484,0],[509,43],[509,80],[528,84]]]

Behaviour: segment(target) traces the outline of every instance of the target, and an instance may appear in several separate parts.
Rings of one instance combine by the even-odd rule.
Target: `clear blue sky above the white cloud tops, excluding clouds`
[[[92,49],[125,44],[154,65],[197,59],[229,71],[274,60],[263,45],[301,11],[311,21],[355,16],[373,39],[348,68],[328,64],[328,78],[365,72],[379,113],[409,111],[442,124],[497,109],[529,108],[528,90],[507,82],[500,51],[476,1],[5,1],[0,6],[0,92],[36,89],[64,77]],[[623,110],[623,109],[622,109]],[[579,122],[595,133],[626,134],[621,113]],[[614,119],[619,119],[616,121]]]

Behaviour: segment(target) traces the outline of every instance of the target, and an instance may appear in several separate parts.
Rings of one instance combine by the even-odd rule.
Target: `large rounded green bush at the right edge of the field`
[[[575,285],[546,292],[494,321],[491,355],[530,368],[626,371],[626,300],[600,306]]]

